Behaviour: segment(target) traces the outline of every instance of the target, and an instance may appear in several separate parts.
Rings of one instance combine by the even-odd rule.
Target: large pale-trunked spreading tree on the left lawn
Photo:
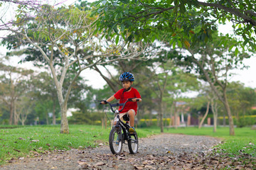
[[[44,5],[32,11],[18,8],[17,12],[16,21],[23,22],[6,29],[12,33],[4,39],[5,44],[9,49],[23,47],[34,54],[37,52],[38,55],[27,57],[50,69],[60,105],[61,133],[69,132],[68,98],[80,73],[96,64],[137,57],[146,47],[102,40],[93,25],[97,16],[90,16],[90,11],[75,6],[54,8]],[[24,20],[31,13],[33,16]],[[74,77],[63,91],[69,72]]]

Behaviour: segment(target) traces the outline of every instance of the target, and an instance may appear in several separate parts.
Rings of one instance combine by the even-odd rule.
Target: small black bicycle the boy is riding
[[[109,145],[112,154],[121,154],[122,152],[122,145],[128,145],[129,152],[131,154],[136,154],[139,149],[139,140],[137,136],[137,132],[129,132],[129,117],[125,117],[124,123],[122,120],[119,119],[119,113],[124,109],[125,104],[128,101],[132,101],[132,98],[128,98],[127,101],[124,103],[109,103],[107,101],[103,101],[110,105],[111,111],[117,114],[117,124],[112,127],[110,130],[110,137],[109,137]],[[100,101],[102,102],[102,101]],[[118,111],[114,107],[122,106],[122,108]],[[123,117],[124,118],[124,117]],[[127,143],[126,143],[127,141]]]

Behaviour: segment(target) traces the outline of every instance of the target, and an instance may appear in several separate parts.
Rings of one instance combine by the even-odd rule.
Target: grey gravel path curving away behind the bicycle
[[[161,134],[139,139],[139,153],[113,155],[107,144],[22,158],[0,169],[201,169],[207,152],[218,145],[214,137]],[[214,167],[213,167],[214,168]]]

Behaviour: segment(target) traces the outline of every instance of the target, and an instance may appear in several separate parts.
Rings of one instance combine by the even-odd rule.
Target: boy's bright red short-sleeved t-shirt
[[[126,92],[124,92],[124,89],[120,89],[119,91],[117,91],[116,94],[114,94],[114,98],[119,100],[119,103],[124,103],[125,101],[127,101],[127,98],[142,98],[142,97],[140,96],[139,91],[137,91],[137,89],[132,88],[131,91],[126,91]],[[130,109],[133,109],[135,111],[135,115],[137,115],[137,107],[138,107],[137,102],[128,101],[124,106],[124,110],[122,110],[122,112],[120,113],[126,113]],[[122,106],[119,106],[119,110],[121,108]]]

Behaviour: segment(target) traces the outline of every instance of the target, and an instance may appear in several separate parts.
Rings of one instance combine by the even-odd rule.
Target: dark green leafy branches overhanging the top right
[[[97,6],[95,13],[102,15],[98,28],[107,36],[117,33],[128,41],[153,41],[164,40],[169,33],[178,36],[177,45],[190,47],[198,40],[207,41],[216,23],[230,21],[235,35],[243,39],[241,47],[249,43],[256,50],[255,4],[247,0],[100,0],[93,5]]]

